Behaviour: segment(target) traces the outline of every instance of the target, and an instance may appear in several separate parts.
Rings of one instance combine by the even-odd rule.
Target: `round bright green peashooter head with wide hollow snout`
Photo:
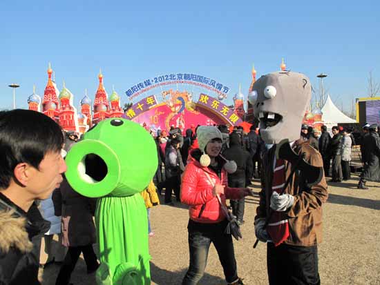
[[[158,166],[149,132],[126,119],[106,119],[84,134],[66,157],[69,184],[87,197],[142,192]]]

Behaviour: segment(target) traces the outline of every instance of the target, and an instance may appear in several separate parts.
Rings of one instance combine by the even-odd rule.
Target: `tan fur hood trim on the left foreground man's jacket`
[[[17,248],[21,253],[30,252],[33,244],[26,232],[26,218],[15,217],[14,210],[0,210],[0,250],[8,253],[10,247]]]

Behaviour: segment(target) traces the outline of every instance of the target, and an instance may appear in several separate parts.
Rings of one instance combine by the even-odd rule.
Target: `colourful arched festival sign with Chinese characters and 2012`
[[[238,126],[243,121],[222,103],[228,92],[224,84],[202,75],[160,75],[126,90],[126,96],[136,103],[123,117],[152,130],[169,130],[171,126],[186,130],[213,124]]]

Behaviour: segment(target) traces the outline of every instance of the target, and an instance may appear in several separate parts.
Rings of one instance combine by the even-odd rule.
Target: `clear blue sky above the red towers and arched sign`
[[[310,2],[310,3],[309,3]],[[379,1],[3,1],[0,9],[0,108],[17,107],[37,86],[48,62],[59,89],[93,99],[102,68],[108,95],[170,72],[206,75],[247,94],[258,76],[287,68],[316,75],[340,107],[366,97],[368,72],[380,81]]]

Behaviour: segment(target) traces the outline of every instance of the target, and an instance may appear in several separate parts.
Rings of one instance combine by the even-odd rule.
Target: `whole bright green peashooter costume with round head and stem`
[[[66,157],[70,185],[99,197],[95,212],[98,284],[151,284],[146,208],[140,192],[158,166],[155,142],[126,119],[106,119],[86,132]]]

